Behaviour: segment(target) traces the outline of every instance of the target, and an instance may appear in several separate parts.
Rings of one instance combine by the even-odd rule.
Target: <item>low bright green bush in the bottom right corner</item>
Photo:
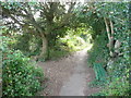
[[[129,96],[131,95],[129,87],[128,81],[122,81],[121,77],[118,77],[107,84],[100,93],[94,94],[93,96]]]

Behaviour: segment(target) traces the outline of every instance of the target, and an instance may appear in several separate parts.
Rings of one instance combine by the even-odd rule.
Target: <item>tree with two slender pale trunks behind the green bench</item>
[[[116,28],[121,29],[127,22],[128,3],[126,2],[91,2],[80,7],[80,17],[90,19],[86,22],[93,27],[93,38],[106,30],[110,57],[119,53],[121,38]],[[85,21],[85,20],[84,20]],[[120,25],[119,25],[120,24]],[[119,27],[117,27],[119,25]]]

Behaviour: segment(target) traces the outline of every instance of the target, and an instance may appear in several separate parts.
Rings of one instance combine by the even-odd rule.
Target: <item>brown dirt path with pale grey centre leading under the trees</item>
[[[45,75],[49,78],[47,88],[40,91],[40,96],[90,96],[99,88],[90,88],[88,83],[95,74],[87,66],[87,49],[62,58],[59,61],[38,62]]]

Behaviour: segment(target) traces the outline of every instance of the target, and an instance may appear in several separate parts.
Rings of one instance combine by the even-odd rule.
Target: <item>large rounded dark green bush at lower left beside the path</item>
[[[19,50],[3,54],[3,97],[35,95],[44,78],[41,69]]]

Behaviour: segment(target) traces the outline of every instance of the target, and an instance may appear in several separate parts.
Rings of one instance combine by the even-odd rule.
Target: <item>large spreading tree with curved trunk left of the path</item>
[[[73,15],[71,12],[75,3],[68,3],[69,9],[66,9],[66,3],[60,2],[0,2],[0,5],[4,25],[22,33],[32,33],[43,40],[41,52],[38,57],[41,58],[46,56],[50,40],[58,35],[64,35],[56,30],[70,25]],[[38,19],[35,19],[36,13],[39,13]]]

